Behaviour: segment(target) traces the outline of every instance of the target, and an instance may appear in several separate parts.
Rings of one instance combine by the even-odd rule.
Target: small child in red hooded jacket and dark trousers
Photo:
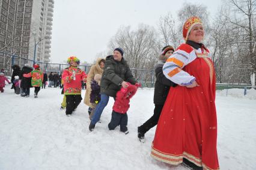
[[[127,129],[127,111],[130,108],[130,99],[135,95],[137,88],[141,86],[139,83],[135,83],[135,85],[132,85],[131,83],[127,84],[127,88],[122,87],[121,90],[117,92],[111,121],[108,124],[109,130],[114,130],[115,127],[120,125],[120,131],[124,132],[125,134],[129,133]]]

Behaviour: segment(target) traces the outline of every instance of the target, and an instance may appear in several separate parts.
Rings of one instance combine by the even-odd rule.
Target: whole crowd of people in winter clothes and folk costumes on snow
[[[155,65],[154,111],[151,118],[138,126],[138,139],[144,142],[145,133],[156,126],[151,146],[151,156],[171,165],[182,165],[189,169],[219,169],[217,154],[217,117],[215,108],[215,70],[209,50],[204,46],[204,26],[198,17],[190,17],[183,25],[185,43],[177,49],[165,46]],[[97,130],[103,110],[109,97],[115,102],[112,106],[109,130],[120,126],[127,129],[129,102],[136,95],[141,84],[133,77],[124,58],[124,50],[117,47],[112,55],[98,58],[88,74],[78,66],[76,56],[67,59],[69,67],[62,74],[50,73],[47,76],[34,64],[34,70],[25,64],[21,69],[13,65],[12,88],[18,94],[29,97],[34,87],[37,97],[40,87],[62,88],[64,94],[61,109],[66,108],[70,117],[82,101],[82,86],[86,83],[84,103],[88,106],[90,124],[88,129]],[[19,80],[17,80],[19,76]],[[0,90],[4,92],[0,74]],[[18,83],[18,85],[17,85]]]

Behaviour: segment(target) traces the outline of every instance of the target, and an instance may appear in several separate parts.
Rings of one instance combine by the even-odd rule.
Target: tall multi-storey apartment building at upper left
[[[5,52],[49,62],[53,0],[0,0],[0,49]],[[36,51],[36,52],[35,52]],[[10,66],[10,56],[0,52],[0,67]],[[15,59],[23,65],[25,59]]]

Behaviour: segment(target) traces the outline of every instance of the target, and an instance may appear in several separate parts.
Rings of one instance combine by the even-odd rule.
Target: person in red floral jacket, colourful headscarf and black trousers
[[[70,56],[67,62],[70,64],[70,67],[63,71],[62,80],[64,82],[64,95],[67,102],[66,115],[69,117],[81,103],[81,81],[86,82],[87,74],[78,68],[80,60],[76,56]]]

